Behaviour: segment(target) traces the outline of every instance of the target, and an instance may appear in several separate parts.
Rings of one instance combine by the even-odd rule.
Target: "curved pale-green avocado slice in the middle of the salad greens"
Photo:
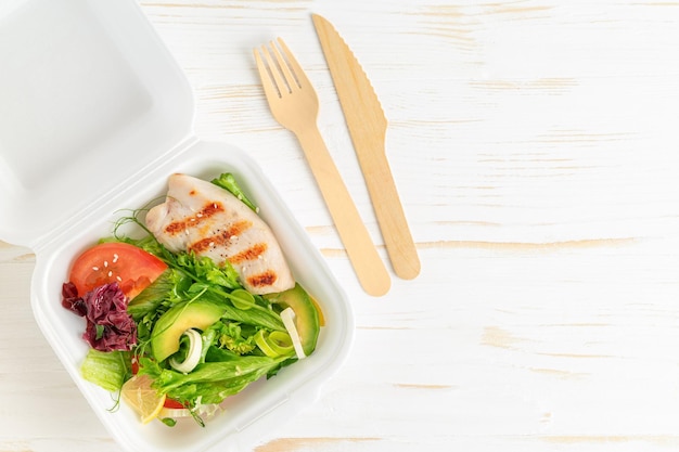
[[[223,314],[223,308],[195,300],[181,302],[167,310],[155,323],[151,350],[159,362],[179,351],[179,339],[189,328],[205,330]]]

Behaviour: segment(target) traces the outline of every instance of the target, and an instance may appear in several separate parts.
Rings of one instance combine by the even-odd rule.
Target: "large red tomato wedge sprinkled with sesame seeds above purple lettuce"
[[[68,281],[84,296],[104,284],[117,282],[132,299],[167,269],[157,257],[127,243],[103,243],[82,253],[73,263]]]

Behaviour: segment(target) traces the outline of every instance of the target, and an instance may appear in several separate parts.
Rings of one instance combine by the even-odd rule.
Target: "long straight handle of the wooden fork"
[[[296,132],[296,135],[361,286],[373,296],[386,294],[392,285],[389,274],[321,133],[317,127],[310,127]]]

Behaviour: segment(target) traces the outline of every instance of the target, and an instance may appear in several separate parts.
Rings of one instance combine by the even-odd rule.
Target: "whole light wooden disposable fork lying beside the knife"
[[[370,295],[386,294],[389,274],[318,130],[313,87],[281,38],[254,53],[271,113],[302,144],[359,282]]]

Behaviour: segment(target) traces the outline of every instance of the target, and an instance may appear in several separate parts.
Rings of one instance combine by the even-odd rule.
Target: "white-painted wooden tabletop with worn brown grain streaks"
[[[679,3],[141,7],[195,89],[196,133],[257,160],[356,311],[348,362],[256,452],[679,447]],[[360,288],[254,67],[253,47],[286,40],[382,245],[310,13],[389,119],[422,273],[382,298]],[[34,322],[34,263],[0,243],[0,451],[118,451]]]

